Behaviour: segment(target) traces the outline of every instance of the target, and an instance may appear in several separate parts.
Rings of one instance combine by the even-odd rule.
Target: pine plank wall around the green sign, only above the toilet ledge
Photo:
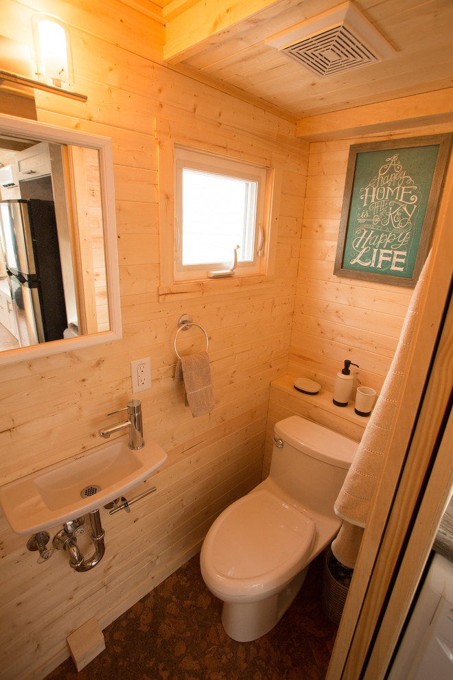
[[[411,288],[334,276],[349,146],[361,141],[310,145],[288,372],[331,392],[345,359],[359,365],[351,366],[354,388],[380,392],[412,295]]]

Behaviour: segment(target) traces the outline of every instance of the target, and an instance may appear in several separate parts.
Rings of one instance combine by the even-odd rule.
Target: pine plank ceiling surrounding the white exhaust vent
[[[395,55],[321,79],[266,41],[336,8],[338,0],[135,4],[161,12],[170,67],[292,122],[453,86],[453,0],[354,0]]]

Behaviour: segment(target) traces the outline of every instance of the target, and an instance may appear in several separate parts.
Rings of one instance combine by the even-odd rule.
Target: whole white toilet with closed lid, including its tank
[[[219,515],[200,553],[232,639],[266,635],[297,596],[308,565],[340,528],[334,502],[357,447],[300,416],[275,424],[269,476]]]

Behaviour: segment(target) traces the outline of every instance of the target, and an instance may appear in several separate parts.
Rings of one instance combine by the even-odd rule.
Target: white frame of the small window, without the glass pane
[[[228,261],[209,262],[202,264],[183,264],[182,249],[184,238],[183,225],[183,170],[190,168],[216,174],[224,177],[234,177],[252,181],[257,185],[255,199],[255,220],[253,224],[253,244],[251,251],[253,260],[244,261],[241,258],[241,249],[238,251],[237,267],[235,276],[257,275],[264,272],[266,257],[264,257],[264,238],[266,229],[265,219],[265,199],[266,182],[268,179],[268,168],[244,163],[229,157],[220,157],[206,151],[189,148],[186,146],[174,145],[174,280],[175,282],[205,280],[212,278],[212,272],[224,272],[224,277],[231,276],[229,269],[234,258],[234,248],[231,245],[231,258]],[[248,237],[251,238],[249,232]],[[220,277],[223,277],[222,274]]]

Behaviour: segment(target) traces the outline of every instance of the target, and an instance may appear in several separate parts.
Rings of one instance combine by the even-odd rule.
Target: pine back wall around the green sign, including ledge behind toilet
[[[425,125],[397,137],[452,129],[449,123]],[[356,387],[367,385],[379,394],[391,365],[413,288],[334,275],[349,146],[389,137],[382,133],[310,145],[288,375],[274,381],[270,390],[264,475],[270,466],[272,431],[281,418],[298,414],[360,441],[367,419],[353,411]],[[447,198],[442,196],[441,202]],[[353,393],[343,409],[332,405],[332,391],[345,359],[359,368],[351,366]],[[293,387],[297,376],[318,381],[321,392],[300,394]]]

